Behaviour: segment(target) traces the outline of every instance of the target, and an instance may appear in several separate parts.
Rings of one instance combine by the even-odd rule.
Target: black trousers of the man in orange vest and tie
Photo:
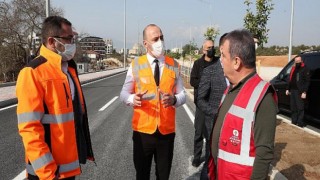
[[[133,162],[137,180],[149,180],[152,159],[156,165],[157,180],[170,176],[175,133],[162,135],[158,130],[153,134],[133,131]]]

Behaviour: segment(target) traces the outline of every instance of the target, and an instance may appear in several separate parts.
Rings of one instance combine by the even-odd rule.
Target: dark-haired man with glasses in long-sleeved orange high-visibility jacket
[[[75,62],[74,32],[62,17],[45,19],[40,54],[18,77],[18,128],[27,179],[75,179],[94,160],[87,109]]]

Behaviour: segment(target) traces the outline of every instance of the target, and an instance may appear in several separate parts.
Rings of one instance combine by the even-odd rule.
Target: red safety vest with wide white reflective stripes
[[[255,159],[254,121],[257,107],[270,84],[257,74],[241,88],[225,115],[219,138],[217,167],[209,160],[209,179],[250,179]],[[226,89],[221,104],[228,92]],[[275,101],[277,101],[274,95]],[[217,175],[214,174],[217,169]]]

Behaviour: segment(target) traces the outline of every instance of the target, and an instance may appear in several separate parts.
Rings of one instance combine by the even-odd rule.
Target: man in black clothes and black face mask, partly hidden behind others
[[[197,105],[197,95],[198,95],[198,87],[200,83],[200,78],[202,75],[202,71],[205,67],[211,65],[213,63],[214,58],[214,43],[211,40],[205,40],[202,46],[203,56],[196,60],[193,64],[190,84],[194,87],[194,103],[196,105],[196,113],[194,120],[194,152],[193,152],[193,161],[192,165],[198,167],[201,164],[201,154],[202,154],[202,146],[203,146],[203,138],[204,138],[204,113],[198,108]]]

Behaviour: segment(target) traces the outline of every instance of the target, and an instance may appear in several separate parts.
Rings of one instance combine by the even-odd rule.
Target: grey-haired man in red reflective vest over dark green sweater
[[[211,134],[210,179],[266,179],[273,160],[277,103],[272,86],[256,73],[255,44],[235,30],[220,47],[230,82]]]

